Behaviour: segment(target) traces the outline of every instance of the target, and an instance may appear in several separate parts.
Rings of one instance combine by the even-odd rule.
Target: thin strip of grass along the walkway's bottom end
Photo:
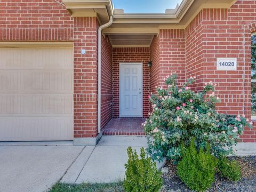
[[[123,182],[82,183],[80,185],[56,183],[49,192],[123,192]]]

